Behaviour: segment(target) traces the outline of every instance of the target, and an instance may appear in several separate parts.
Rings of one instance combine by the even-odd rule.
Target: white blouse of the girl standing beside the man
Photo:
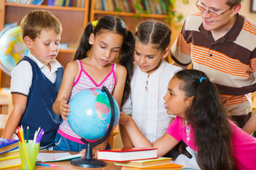
[[[139,130],[150,142],[164,135],[169,126],[171,116],[164,108],[164,96],[171,77],[179,70],[180,67],[162,61],[159,68],[148,77],[134,62],[131,94],[122,111],[132,115]]]

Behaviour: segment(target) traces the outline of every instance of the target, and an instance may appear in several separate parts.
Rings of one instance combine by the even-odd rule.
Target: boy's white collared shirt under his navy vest
[[[62,67],[61,64],[54,60],[53,62],[50,62],[49,69],[45,64],[40,62],[36,57],[31,55],[30,52],[28,52],[28,57],[31,58],[36,64],[38,64],[38,67],[41,69],[43,74],[52,82],[55,82],[56,79],[56,72],[59,67]],[[18,92],[21,94],[24,94],[28,96],[29,89],[32,85],[32,79],[33,79],[33,71],[31,64],[27,61],[22,61],[18,65],[14,67],[14,69],[11,70],[11,92]]]

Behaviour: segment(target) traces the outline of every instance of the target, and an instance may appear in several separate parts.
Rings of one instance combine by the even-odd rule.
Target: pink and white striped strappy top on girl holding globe
[[[97,84],[92,77],[90,77],[87,72],[82,68],[82,62],[80,60],[76,60],[78,62],[79,66],[79,74],[78,78],[75,79],[75,82],[73,84],[73,89],[70,94],[69,101],[75,94],[78,94],[79,91],[82,91],[84,89],[102,89],[102,86],[106,86],[107,89],[110,91],[110,94],[112,94],[112,91],[114,89],[114,86],[117,84],[117,77],[115,74],[115,69],[117,67],[117,64],[112,64],[112,69],[109,74],[107,74],[107,77],[103,79],[103,81],[100,84]],[[60,128],[58,129],[58,133],[67,138],[68,140],[72,140],[73,142],[78,142],[81,144],[84,144],[80,140],[80,136],[76,135],[75,132],[70,128],[70,125],[68,124],[67,120],[63,120],[63,123],[60,124]]]

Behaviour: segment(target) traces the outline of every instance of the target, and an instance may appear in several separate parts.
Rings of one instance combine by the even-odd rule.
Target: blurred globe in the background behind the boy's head
[[[0,69],[11,74],[11,69],[28,55],[28,49],[21,37],[21,26],[12,23],[0,32]]]

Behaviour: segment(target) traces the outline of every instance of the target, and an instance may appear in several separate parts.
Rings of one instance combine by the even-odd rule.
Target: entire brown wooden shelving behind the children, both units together
[[[83,8],[76,7],[78,2],[84,2]],[[168,20],[169,16],[166,14],[156,14],[156,11],[149,13],[148,10],[132,12],[132,11],[114,11],[114,2],[127,1],[136,4],[138,1],[165,1],[165,0],[73,0],[71,6],[48,6],[48,0],[44,0],[42,5],[26,5],[26,4],[14,4],[7,3],[6,0],[0,0],[0,30],[4,28],[5,23],[17,22],[21,23],[21,19],[29,11],[35,9],[43,9],[53,13],[63,25],[63,33],[61,35],[61,43],[68,43],[70,47],[68,49],[60,49],[57,60],[65,67],[73,57],[75,53],[75,46],[82,33],[82,28],[85,28],[88,21],[93,21],[101,18],[102,16],[112,15],[119,16],[126,23],[129,30],[132,33],[135,32],[137,24],[147,20],[157,20],[166,23],[171,27],[171,21]],[[102,8],[98,8],[99,4],[107,3],[108,6],[112,6],[111,11],[104,11]],[[135,3],[136,2],[136,3]],[[96,9],[97,8],[97,9]],[[161,12],[163,13],[163,11]],[[173,36],[173,35],[172,35]],[[174,40],[172,38],[172,40]],[[10,76],[0,70],[0,88],[10,86]]]

